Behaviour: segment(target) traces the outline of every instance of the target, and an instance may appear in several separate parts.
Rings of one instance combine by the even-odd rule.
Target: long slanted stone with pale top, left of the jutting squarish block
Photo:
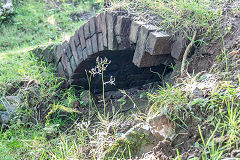
[[[137,46],[135,49],[135,53],[133,56],[133,63],[138,67],[149,67],[152,66],[148,63],[154,63],[149,61],[150,54],[146,54],[145,52],[145,45],[147,41],[148,34],[152,31],[156,31],[157,28],[153,25],[143,25],[140,29]],[[143,58],[146,56],[147,58]],[[148,66],[149,65],[149,66]]]

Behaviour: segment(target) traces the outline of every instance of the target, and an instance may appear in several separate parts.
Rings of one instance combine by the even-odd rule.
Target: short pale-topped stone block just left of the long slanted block
[[[131,27],[130,27],[130,34],[129,34],[129,39],[132,43],[137,43],[140,28],[144,24],[145,24],[144,22],[140,22],[140,21],[132,22]]]

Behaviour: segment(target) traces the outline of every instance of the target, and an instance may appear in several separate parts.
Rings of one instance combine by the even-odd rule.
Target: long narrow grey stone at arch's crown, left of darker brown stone
[[[117,40],[114,34],[114,27],[116,25],[116,16],[111,13],[107,13],[107,38],[108,38],[108,49],[116,50],[117,49]]]

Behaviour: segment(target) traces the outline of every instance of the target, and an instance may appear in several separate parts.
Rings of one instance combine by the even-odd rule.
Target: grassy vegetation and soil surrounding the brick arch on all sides
[[[90,92],[64,87],[57,67],[43,61],[42,49],[36,47],[68,39],[84,22],[78,16],[98,8],[96,4],[92,0],[19,0],[14,3],[14,15],[0,21],[0,112],[6,109],[2,99],[20,97],[16,114],[1,126],[0,159],[133,159],[141,147],[152,144],[155,147],[148,154],[141,152],[141,158],[239,158],[239,42],[229,46],[228,53],[223,41],[232,28],[230,23],[221,24],[223,15],[228,19],[228,13],[237,14],[239,7],[223,0],[111,1],[107,9],[127,11],[134,19],[172,34],[184,32],[189,39],[197,31],[199,44],[221,37],[223,45],[210,73],[186,73],[175,85],[141,92],[144,104],[134,102],[140,92],[121,90],[120,96],[114,95],[121,97],[118,108],[111,93],[103,91],[93,98]],[[103,76],[101,71],[98,74]],[[136,130],[122,138],[136,123],[158,113],[172,122],[174,137],[153,141],[150,133]]]

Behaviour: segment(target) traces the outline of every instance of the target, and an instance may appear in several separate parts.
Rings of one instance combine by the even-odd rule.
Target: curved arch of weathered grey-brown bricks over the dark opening
[[[139,68],[166,65],[173,60],[168,34],[153,25],[113,12],[92,17],[69,42],[58,45],[54,54],[59,75],[75,83],[89,61],[109,51],[122,50],[134,52],[130,61]]]

